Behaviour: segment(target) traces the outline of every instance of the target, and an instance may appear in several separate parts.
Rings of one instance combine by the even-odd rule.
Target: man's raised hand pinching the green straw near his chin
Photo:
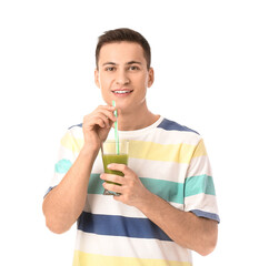
[[[113,111],[116,108],[100,105],[92,113],[83,117],[84,145],[99,150],[101,143],[106,141],[108,133],[116,122]]]

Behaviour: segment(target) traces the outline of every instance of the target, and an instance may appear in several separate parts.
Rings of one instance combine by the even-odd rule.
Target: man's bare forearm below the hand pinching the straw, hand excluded
[[[97,154],[98,151],[82,149],[60,184],[46,196],[42,208],[52,232],[68,231],[81,214]]]

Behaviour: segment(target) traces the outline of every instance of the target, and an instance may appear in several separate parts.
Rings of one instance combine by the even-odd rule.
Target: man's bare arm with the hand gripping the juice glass
[[[121,184],[103,183],[104,188],[121,193],[114,200],[140,209],[150,221],[157,224],[171,239],[200,255],[213,250],[218,236],[218,223],[198,217],[192,213],[180,211],[159,196],[149,192],[139,177],[128,166],[111,164],[111,170],[123,172],[124,176],[102,174],[101,178]]]

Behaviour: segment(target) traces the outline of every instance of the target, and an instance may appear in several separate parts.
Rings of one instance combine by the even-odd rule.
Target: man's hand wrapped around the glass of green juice
[[[148,193],[148,190],[143,186],[136,173],[124,164],[110,164],[109,170],[120,171],[124,176],[101,174],[100,178],[103,181],[110,181],[116,184],[103,183],[103,187],[108,191],[120,193],[119,196],[114,196],[114,200],[122,202],[127,205],[138,206],[141,198]]]

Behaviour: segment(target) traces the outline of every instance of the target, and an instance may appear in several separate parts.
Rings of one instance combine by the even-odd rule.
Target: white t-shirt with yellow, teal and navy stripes
[[[173,207],[219,222],[211,168],[197,132],[160,117],[146,129],[120,131],[119,137],[130,141],[128,166],[150,192]],[[108,139],[114,139],[113,129]],[[70,127],[61,140],[49,191],[62,180],[82,145],[82,125]],[[99,153],[78,219],[73,266],[191,265],[191,252],[138,208],[103,195],[101,173]]]

